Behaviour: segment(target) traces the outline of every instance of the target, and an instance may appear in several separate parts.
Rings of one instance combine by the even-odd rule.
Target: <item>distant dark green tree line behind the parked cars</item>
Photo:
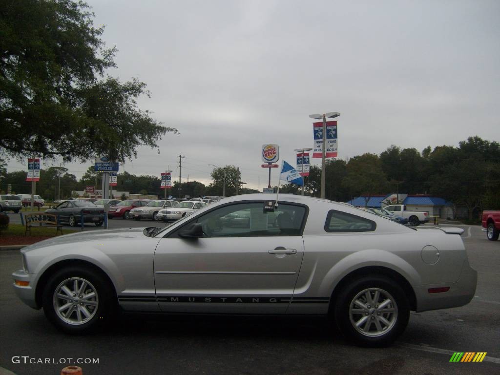
[[[84,190],[85,186],[100,187],[101,175],[89,166],[80,180],[63,167],[49,167],[40,172],[37,193],[46,199],[70,196],[72,190]],[[16,193],[30,193],[31,183],[25,181],[26,172],[6,172],[0,190],[5,192],[11,184]],[[232,165],[214,168],[212,182],[205,186],[199,181],[172,181],[167,194],[173,196],[236,194],[241,180],[240,171]],[[135,175],[126,171],[118,173],[115,190],[163,196],[160,178],[154,175]],[[305,178],[306,195],[319,196],[321,170],[311,165]],[[179,189],[180,187],[180,189]],[[277,186],[274,186],[277,188]],[[300,194],[300,187],[281,185],[283,193]],[[238,186],[237,193],[258,192]],[[425,147],[421,152],[415,148],[387,147],[380,154],[363,153],[349,160],[331,159],[326,162],[325,197],[336,201],[348,201],[356,196],[391,192],[405,194],[427,193],[442,197],[454,206],[465,207],[469,218],[482,209],[500,209],[500,144],[483,140],[478,136],[468,137],[458,146]]]

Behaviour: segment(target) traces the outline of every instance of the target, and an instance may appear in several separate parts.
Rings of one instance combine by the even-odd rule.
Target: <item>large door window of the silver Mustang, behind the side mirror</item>
[[[223,206],[199,217],[204,237],[249,237],[300,235],[305,208],[279,204],[264,212],[263,202]]]

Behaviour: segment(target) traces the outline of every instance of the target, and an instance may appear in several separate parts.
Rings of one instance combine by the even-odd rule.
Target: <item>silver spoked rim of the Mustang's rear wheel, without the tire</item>
[[[352,326],[361,334],[376,337],[387,333],[397,320],[392,295],[379,288],[361,290],[349,306]]]

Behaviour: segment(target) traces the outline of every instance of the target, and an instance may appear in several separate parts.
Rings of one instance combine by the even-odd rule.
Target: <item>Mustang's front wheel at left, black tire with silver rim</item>
[[[84,296],[85,293],[90,295],[94,292],[95,296],[84,298],[76,293],[70,297],[60,291],[61,285],[66,285],[73,291],[71,285],[74,279],[77,280],[79,287],[82,286],[82,281],[86,282],[80,295]],[[59,298],[58,295],[68,297]],[[65,304],[70,304],[65,311],[56,311],[57,307]],[[116,295],[109,281],[100,272],[83,266],[71,265],[60,269],[50,277],[43,290],[42,307],[45,316],[53,325],[66,333],[87,333],[110,325],[117,310],[116,306]],[[88,317],[83,313],[83,309],[89,314]]]

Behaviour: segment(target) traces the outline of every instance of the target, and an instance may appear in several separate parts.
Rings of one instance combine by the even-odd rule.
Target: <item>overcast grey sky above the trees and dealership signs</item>
[[[145,82],[139,107],[180,131],[120,171],[169,167],[178,180],[181,154],[182,181],[208,184],[207,164],[229,164],[261,189],[261,145],[294,165],[293,149],[312,146],[308,115],[328,111],[340,112],[340,158],[500,140],[498,0],[87,2],[118,49],[108,73]],[[79,178],[90,164],[66,167]]]

